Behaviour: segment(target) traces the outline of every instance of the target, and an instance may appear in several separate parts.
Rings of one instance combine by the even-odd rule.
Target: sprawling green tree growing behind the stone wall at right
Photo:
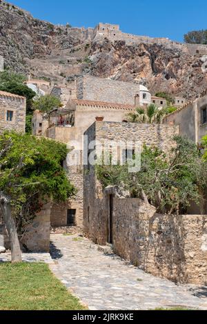
[[[190,201],[199,203],[205,197],[207,163],[195,143],[180,136],[175,136],[175,142],[170,156],[144,145],[137,173],[129,173],[127,165],[97,165],[97,177],[103,188],[118,185],[130,196],[144,198],[157,212],[184,212]]]

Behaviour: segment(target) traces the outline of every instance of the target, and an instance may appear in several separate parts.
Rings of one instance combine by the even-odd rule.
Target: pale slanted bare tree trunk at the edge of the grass
[[[17,234],[17,228],[12,218],[12,211],[10,206],[10,199],[8,196],[0,192],[0,205],[1,212],[3,214],[3,221],[6,224],[6,229],[8,231],[11,252],[12,252],[12,263],[21,262],[21,249],[19,245],[19,238]]]

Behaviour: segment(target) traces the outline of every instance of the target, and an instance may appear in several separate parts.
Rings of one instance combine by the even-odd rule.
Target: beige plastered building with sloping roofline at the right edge
[[[179,125],[179,134],[200,143],[202,137],[207,134],[207,94],[168,114],[164,123]]]

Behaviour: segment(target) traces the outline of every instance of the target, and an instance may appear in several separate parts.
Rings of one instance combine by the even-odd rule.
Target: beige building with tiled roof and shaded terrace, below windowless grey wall
[[[32,118],[33,134],[46,136],[68,144],[72,152],[68,155],[69,178],[77,188],[77,196],[65,205],[53,205],[51,209],[52,227],[76,225],[77,230],[83,225],[83,134],[96,119],[122,122],[126,114],[135,110],[135,105],[70,99],[65,108],[54,110],[50,114],[34,112]],[[79,161],[75,161],[76,157]],[[74,164],[74,165],[72,165]]]

